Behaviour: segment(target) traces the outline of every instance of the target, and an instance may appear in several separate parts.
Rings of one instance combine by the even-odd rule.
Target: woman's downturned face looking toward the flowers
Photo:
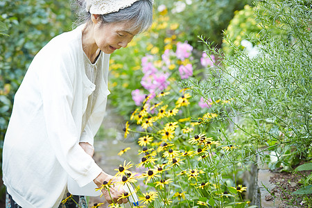
[[[98,19],[94,22],[94,40],[98,49],[111,54],[116,49],[125,48],[138,31],[130,31],[131,22],[114,22],[101,24]]]

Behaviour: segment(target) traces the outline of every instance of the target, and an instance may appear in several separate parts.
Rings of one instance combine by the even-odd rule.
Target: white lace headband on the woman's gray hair
[[[112,12],[118,12],[123,8],[132,6],[133,3],[139,0],[86,0],[87,12],[94,15],[106,15]],[[153,2],[153,1],[152,1]]]

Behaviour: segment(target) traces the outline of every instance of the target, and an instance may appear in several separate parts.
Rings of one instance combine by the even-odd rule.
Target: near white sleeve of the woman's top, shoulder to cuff
[[[72,110],[78,69],[70,55],[60,51],[45,66],[40,73],[40,88],[47,136],[61,166],[82,187],[102,170],[78,144],[80,127]]]

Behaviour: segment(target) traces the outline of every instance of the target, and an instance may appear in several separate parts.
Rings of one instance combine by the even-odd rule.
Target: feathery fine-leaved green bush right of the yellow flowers
[[[237,130],[254,150],[266,146],[274,152],[275,168],[291,170],[298,155],[307,159],[312,150],[311,4],[271,0],[259,1],[257,7],[265,34],[258,40],[258,55],[250,57],[228,37],[233,57],[206,42],[207,53],[218,54],[221,64],[211,68],[207,81],[186,87],[212,101],[232,99],[223,119],[233,129],[223,137],[232,140]],[[275,38],[266,30],[270,27],[288,37]]]

